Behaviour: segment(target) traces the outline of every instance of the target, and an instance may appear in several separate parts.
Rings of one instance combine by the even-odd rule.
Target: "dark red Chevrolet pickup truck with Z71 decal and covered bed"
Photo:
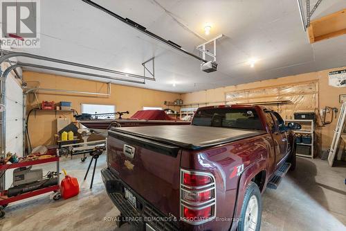
[[[112,128],[102,180],[138,230],[260,230],[266,187],[295,167],[293,129],[257,105],[199,108],[191,126]]]

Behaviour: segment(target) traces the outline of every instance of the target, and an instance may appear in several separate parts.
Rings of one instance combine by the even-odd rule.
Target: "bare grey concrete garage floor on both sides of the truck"
[[[84,173],[89,164],[62,158],[61,166],[76,176],[80,194],[69,200],[54,201],[49,194],[37,196],[6,207],[6,217],[0,220],[1,231],[14,230],[131,230],[124,225],[116,228],[119,211],[104,191],[100,169],[105,155],[98,160],[93,189]],[[53,170],[54,165],[44,166]],[[263,195],[261,230],[346,230],[346,166],[330,168],[326,161],[298,157],[297,169],[289,172],[276,190],[266,189]]]

